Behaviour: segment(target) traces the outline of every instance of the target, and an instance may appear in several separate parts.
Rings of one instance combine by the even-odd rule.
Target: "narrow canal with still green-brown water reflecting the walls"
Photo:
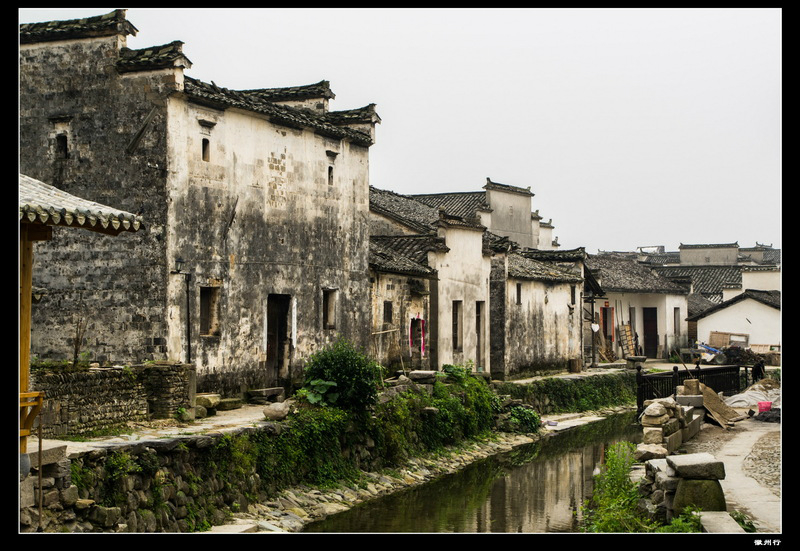
[[[304,532],[574,532],[615,442],[641,441],[636,413],[611,416],[309,524]]]

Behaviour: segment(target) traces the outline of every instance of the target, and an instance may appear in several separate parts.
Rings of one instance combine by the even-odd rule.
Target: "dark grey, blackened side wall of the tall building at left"
[[[163,99],[175,82],[171,72],[118,75],[124,43],[20,46],[20,172],[146,221],[118,237],[55,228],[52,241],[35,245],[33,285],[45,294],[33,305],[32,356],[71,358],[82,322],[80,352],[93,360],[167,356]]]

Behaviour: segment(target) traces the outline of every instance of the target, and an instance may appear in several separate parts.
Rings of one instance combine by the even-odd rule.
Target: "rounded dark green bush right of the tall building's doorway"
[[[303,389],[309,401],[361,412],[377,402],[380,376],[381,368],[377,363],[349,342],[338,340],[308,359],[307,385]]]

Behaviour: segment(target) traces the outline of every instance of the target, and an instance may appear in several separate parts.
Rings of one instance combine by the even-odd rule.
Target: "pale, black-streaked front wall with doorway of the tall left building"
[[[286,384],[340,335],[366,346],[368,150],[180,97],[170,130],[169,255],[191,274],[190,309],[202,308],[200,287],[219,288],[218,334],[187,335],[185,280],[170,279],[170,348],[192,355],[199,388],[203,375],[230,372],[250,385]],[[336,302],[326,327],[324,290]],[[266,363],[270,294],[290,301],[275,369]]]

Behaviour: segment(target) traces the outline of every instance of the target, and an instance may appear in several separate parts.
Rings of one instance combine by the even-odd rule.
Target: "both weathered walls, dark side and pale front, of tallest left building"
[[[90,359],[191,363],[233,395],[298,381],[339,336],[367,346],[367,147],[191,103],[182,67],[120,74],[124,46],[21,47],[20,172],[147,228],[37,245],[32,354],[71,358],[86,320]]]

